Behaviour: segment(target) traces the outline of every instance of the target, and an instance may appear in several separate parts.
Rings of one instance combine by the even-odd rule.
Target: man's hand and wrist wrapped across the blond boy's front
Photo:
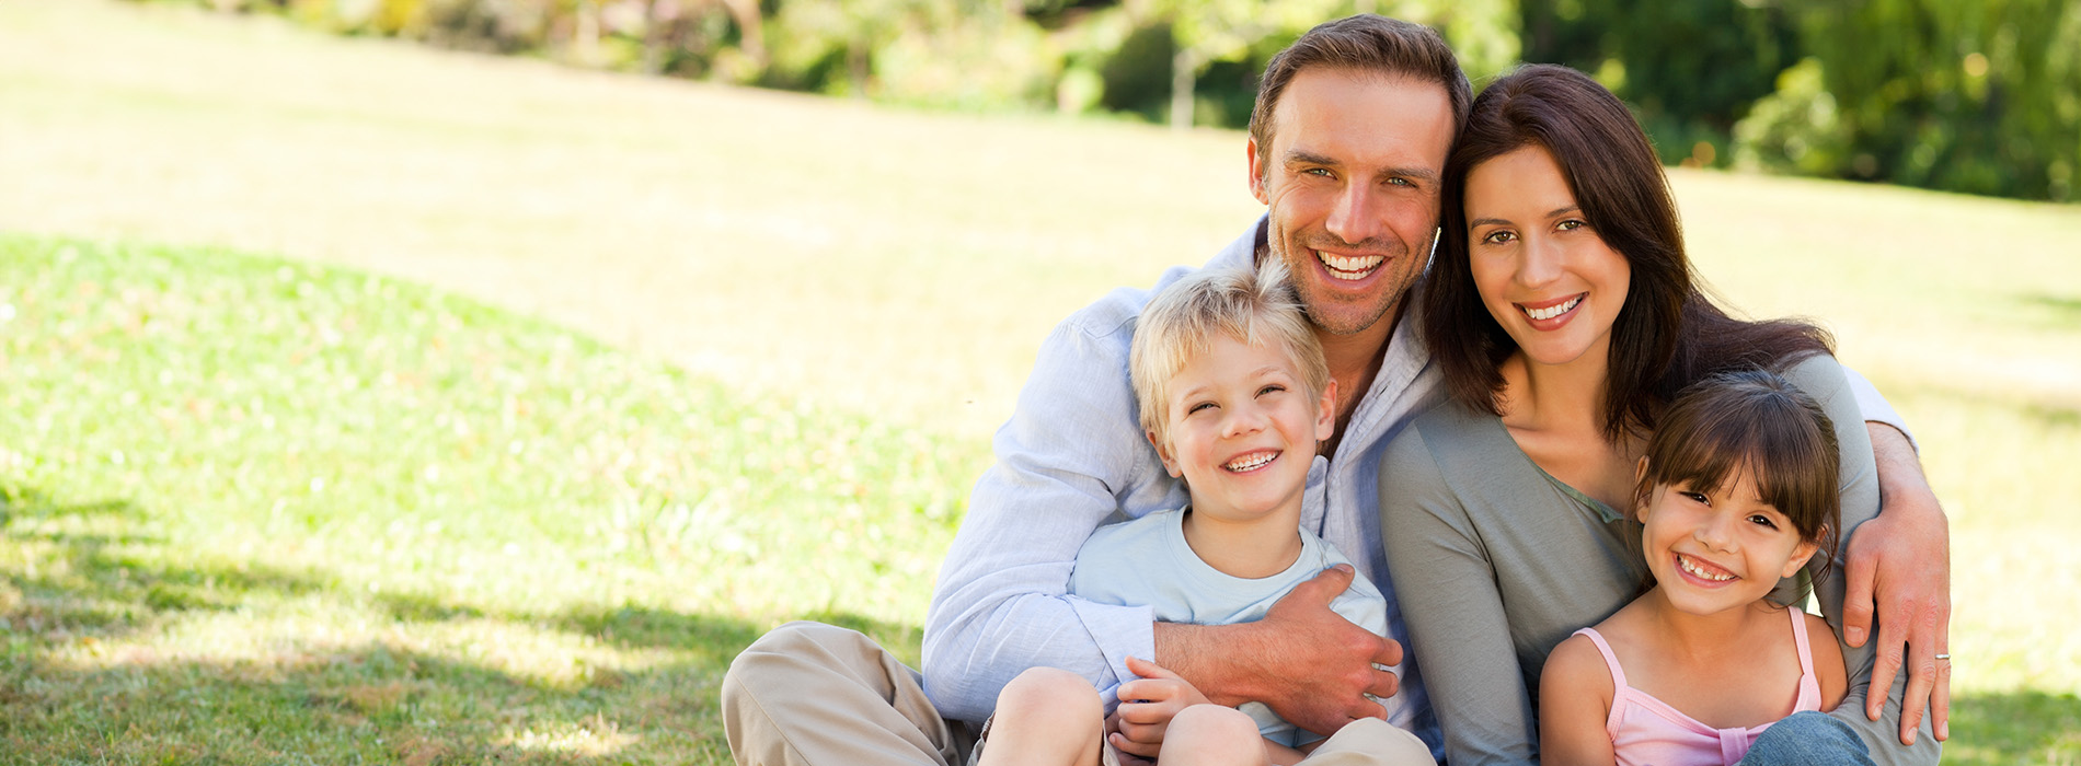
[[[1359,718],[1386,718],[1386,708],[1367,695],[1394,695],[1401,679],[1376,664],[1401,664],[1403,645],[1330,610],[1351,579],[1348,564],[1332,566],[1296,585],[1257,622],[1157,622],[1157,662],[1215,704],[1263,701],[1317,735],[1334,735]]]

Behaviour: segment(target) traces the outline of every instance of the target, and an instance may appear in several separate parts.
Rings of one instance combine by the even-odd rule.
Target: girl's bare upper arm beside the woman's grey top
[[[1611,766],[1611,670],[1588,637],[1555,647],[1540,670],[1540,764]]]

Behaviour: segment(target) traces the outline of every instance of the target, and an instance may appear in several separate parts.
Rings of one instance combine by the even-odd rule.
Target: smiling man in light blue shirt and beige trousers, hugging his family
[[[1263,620],[1230,627],[1153,622],[1145,608],[1065,595],[1093,529],[1184,504],[1136,427],[1126,373],[1134,318],[1186,273],[1174,269],[1149,291],[1113,291],[1076,312],[1043,343],[941,570],[922,685],[857,633],[776,629],[724,679],[737,760],[959,764],[974,743],[968,722],[986,718],[1022,670],[1065,668],[1109,689],[1130,679],[1128,656],[1153,658],[1219,704],[1263,701],[1311,731],[1388,718],[1436,749],[1421,668],[1403,662],[1407,633],[1384,566],[1373,473],[1388,439],[1440,398],[1415,323],[1403,318],[1469,102],[1467,77],[1425,27],[1371,15],[1315,27],[1267,67],[1251,114],[1249,181],[1267,216],[1207,264],[1282,258],[1294,275],[1336,389],[1351,391],[1311,468],[1303,527],[1351,552],[1388,593],[1392,637],[1330,612],[1351,579],[1342,570],[1294,589]],[[1869,400],[1867,408],[1883,408],[1875,393]],[[1875,685],[1892,681],[1900,643],[1910,641],[1896,627],[1923,629],[1910,641],[1910,699],[1935,689],[1944,731],[1948,662],[1933,660],[1950,614],[1944,518],[1900,431],[1871,429],[1887,510],[1852,545],[1850,622],[1869,627],[1869,606],[1858,612],[1858,604],[1871,604],[1875,581],[1883,597]],[[1908,708],[1902,726],[1915,731],[1923,706]]]

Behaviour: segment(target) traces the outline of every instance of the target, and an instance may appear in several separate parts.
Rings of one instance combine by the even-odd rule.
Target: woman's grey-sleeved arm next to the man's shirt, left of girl
[[[1532,697],[1496,572],[1419,425],[1380,464],[1380,537],[1453,764],[1536,764]]]

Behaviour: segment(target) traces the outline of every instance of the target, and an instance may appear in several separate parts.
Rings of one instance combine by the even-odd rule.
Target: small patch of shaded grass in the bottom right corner
[[[2077,764],[2081,697],[2012,691],[1952,699],[1946,764]]]

